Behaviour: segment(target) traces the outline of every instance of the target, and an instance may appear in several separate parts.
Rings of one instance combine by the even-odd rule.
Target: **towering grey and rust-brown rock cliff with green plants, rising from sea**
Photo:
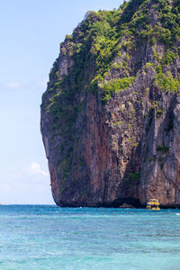
[[[60,54],[40,129],[61,206],[180,206],[180,1],[90,12]]]

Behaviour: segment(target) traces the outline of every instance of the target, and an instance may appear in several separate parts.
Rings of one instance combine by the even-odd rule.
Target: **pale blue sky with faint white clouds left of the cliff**
[[[122,0],[0,0],[0,203],[54,204],[40,135],[41,95],[59,44],[87,11]]]

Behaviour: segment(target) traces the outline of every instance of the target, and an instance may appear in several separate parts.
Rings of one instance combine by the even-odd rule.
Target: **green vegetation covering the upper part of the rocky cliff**
[[[97,93],[101,85],[103,103],[111,98],[111,93],[116,91],[116,84],[103,82],[109,75],[112,67],[114,70],[123,71],[122,81],[129,81],[129,76],[135,76],[134,70],[128,67],[129,58],[138,49],[140,44],[149,43],[154,46],[157,43],[166,45],[164,56],[158,56],[156,49],[153,49],[155,62],[170,65],[178,56],[178,48],[172,47],[173,42],[180,35],[180,2],[179,0],[138,0],[124,1],[118,10],[89,12],[85,20],[73,32],[67,35],[64,43],[61,44],[62,57],[72,58],[73,66],[68,68],[67,76],[58,78],[57,62],[49,74],[49,89],[54,94],[61,93],[63,89],[70,88],[67,102],[73,100],[77,91],[82,87]],[[175,51],[176,49],[176,51]],[[126,54],[121,57],[121,54]],[[113,63],[115,58],[119,62]],[[131,73],[131,74],[130,74]],[[156,84],[165,87],[170,86],[170,91],[178,85],[178,79],[168,76],[169,81],[164,82],[166,74],[157,74]],[[121,81],[121,82],[122,82]],[[107,87],[107,85],[114,85]],[[126,88],[120,87],[120,89]],[[108,89],[107,89],[108,88]],[[110,90],[111,88],[111,90]],[[167,88],[165,88],[165,91]],[[62,91],[62,96],[64,95]],[[54,99],[49,100],[49,107]]]

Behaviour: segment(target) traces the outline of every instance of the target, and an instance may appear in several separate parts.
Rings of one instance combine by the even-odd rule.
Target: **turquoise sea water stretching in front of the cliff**
[[[0,206],[0,269],[179,270],[180,210]]]

